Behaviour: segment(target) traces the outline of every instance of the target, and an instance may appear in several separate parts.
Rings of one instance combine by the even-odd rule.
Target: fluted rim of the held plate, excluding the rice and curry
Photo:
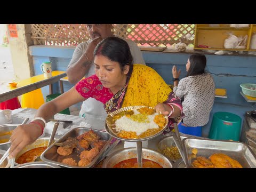
[[[109,113],[107,118],[106,118],[106,121],[105,121],[105,130],[114,138],[117,138],[119,140],[122,140],[122,141],[130,141],[130,142],[138,142],[138,141],[146,141],[146,140],[149,140],[149,139],[152,139],[154,137],[157,137],[159,134],[161,134],[166,126],[168,125],[168,117],[165,115],[164,118],[165,118],[165,124],[163,126],[163,129],[161,129],[161,131],[157,132],[156,134],[154,135],[151,135],[149,137],[145,137],[145,138],[139,138],[139,139],[126,139],[126,138],[122,138],[122,137],[118,137],[117,136],[117,133],[119,133],[118,131],[116,131],[115,127],[115,122],[113,120],[113,117],[119,113],[121,113],[122,111],[129,111],[129,110],[137,110],[137,109],[140,109],[140,108],[150,108],[150,109],[154,109],[153,107],[147,107],[147,106],[129,106],[129,107],[123,107],[123,108],[120,108],[120,109],[117,109],[115,111],[113,111],[112,113]],[[161,111],[157,110],[157,109],[154,109],[155,110],[155,113],[157,114],[162,114]]]

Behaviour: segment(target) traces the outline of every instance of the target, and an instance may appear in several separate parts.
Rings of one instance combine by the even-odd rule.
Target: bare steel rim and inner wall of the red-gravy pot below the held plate
[[[105,161],[103,162],[103,168],[113,168],[117,163],[122,162],[126,159],[137,158],[137,148],[124,148],[114,153],[110,154]],[[156,162],[161,165],[163,168],[172,168],[173,163],[165,157],[163,154],[151,150],[142,148],[142,158],[148,159],[150,161]]]

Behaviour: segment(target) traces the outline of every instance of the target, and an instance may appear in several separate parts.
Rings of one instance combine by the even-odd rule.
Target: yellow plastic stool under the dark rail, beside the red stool
[[[41,89],[22,94],[21,107],[38,109],[44,104],[44,97]]]

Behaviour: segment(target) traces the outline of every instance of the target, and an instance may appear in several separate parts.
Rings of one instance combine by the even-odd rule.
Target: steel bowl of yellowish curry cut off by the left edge
[[[20,124],[4,124],[0,125],[0,149],[8,150],[11,146],[10,137],[12,131]]]

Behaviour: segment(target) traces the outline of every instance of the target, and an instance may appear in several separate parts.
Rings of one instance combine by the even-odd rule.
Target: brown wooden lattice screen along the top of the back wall
[[[31,24],[34,45],[76,46],[90,39],[85,24]],[[190,44],[194,40],[194,24],[114,24],[113,33],[142,46]]]

